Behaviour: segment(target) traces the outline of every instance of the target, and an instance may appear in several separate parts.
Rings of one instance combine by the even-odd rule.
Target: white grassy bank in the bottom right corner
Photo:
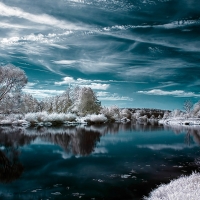
[[[145,200],[199,200],[200,173],[182,176],[153,190]]]

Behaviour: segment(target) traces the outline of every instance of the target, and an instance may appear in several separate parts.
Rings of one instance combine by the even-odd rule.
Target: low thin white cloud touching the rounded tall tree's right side
[[[110,92],[97,92],[97,97],[99,100],[106,100],[106,101],[133,101],[132,98],[127,96],[119,96],[117,93],[110,93]]]

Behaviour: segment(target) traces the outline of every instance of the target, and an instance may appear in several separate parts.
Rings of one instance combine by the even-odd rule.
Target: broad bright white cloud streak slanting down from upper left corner
[[[49,26],[54,26],[64,29],[80,30],[81,26],[76,26],[72,23],[57,20],[56,18],[49,16],[47,14],[31,14],[23,11],[17,7],[10,7],[0,2],[0,15],[5,17],[18,17],[29,20],[34,23],[44,24]]]

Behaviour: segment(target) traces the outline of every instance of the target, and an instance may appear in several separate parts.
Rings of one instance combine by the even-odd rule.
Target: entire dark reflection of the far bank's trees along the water
[[[18,179],[24,168],[19,161],[20,146],[31,144],[36,139],[59,145],[66,153],[87,156],[100,142],[101,136],[119,132],[172,130],[174,133],[186,133],[185,142],[189,145],[191,138],[200,144],[200,128],[197,126],[158,126],[138,123],[113,123],[92,126],[62,126],[28,128],[0,127],[0,181],[11,182]],[[200,163],[197,159],[196,163]]]

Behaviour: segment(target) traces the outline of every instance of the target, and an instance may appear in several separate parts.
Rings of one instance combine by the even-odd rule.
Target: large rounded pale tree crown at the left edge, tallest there
[[[14,65],[0,67],[0,102],[8,93],[21,91],[26,85],[25,72]]]

